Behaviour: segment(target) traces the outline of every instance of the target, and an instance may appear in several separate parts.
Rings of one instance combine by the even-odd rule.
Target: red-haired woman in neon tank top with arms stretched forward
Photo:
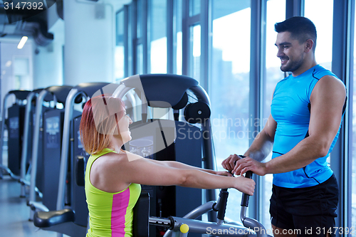
[[[228,177],[172,161],[145,159],[121,149],[131,139],[125,105],[119,98],[100,95],[86,102],[80,137],[91,154],[85,172],[85,194],[90,216],[87,236],[132,236],[132,209],[140,184],[179,185],[197,189],[234,188],[253,195],[255,182]]]

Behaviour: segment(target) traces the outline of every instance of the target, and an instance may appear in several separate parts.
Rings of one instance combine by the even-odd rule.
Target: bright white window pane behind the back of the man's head
[[[304,16],[313,21],[317,31],[315,58],[317,63],[331,70],[333,54],[333,0],[305,0]],[[323,11],[315,11],[323,6]]]

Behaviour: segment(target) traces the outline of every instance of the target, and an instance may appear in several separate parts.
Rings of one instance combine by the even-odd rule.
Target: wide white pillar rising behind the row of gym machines
[[[114,81],[115,12],[109,4],[64,1],[64,84]]]

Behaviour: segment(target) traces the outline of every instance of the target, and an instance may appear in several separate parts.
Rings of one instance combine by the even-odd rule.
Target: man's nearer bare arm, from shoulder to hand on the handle
[[[251,170],[258,175],[290,172],[325,157],[340,127],[345,96],[345,85],[340,80],[330,75],[321,78],[310,95],[309,137],[290,152],[266,163],[251,158],[241,159],[234,172],[244,174]]]

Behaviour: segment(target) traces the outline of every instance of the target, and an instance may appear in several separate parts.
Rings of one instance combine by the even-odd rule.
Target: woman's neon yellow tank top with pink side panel
[[[127,189],[117,193],[108,193],[95,188],[90,183],[90,169],[96,159],[109,152],[105,148],[88,159],[85,171],[85,195],[89,210],[89,224],[87,237],[131,237],[133,208],[141,193],[140,184],[130,184]]]

